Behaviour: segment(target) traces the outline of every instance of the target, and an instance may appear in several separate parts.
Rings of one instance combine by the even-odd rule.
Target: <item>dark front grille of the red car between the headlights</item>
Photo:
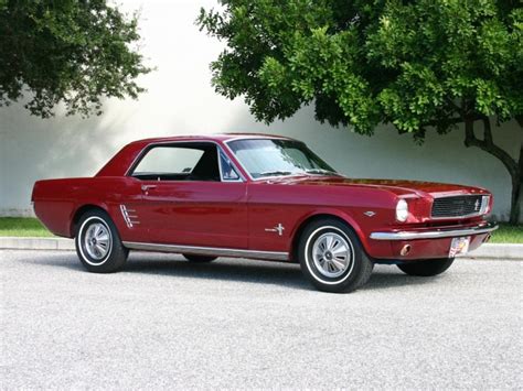
[[[489,197],[480,195],[465,195],[435,198],[433,217],[471,217],[482,214],[489,203]]]

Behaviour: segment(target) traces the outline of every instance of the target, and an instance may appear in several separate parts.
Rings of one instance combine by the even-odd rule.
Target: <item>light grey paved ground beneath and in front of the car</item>
[[[376,267],[337,295],[292,264],[135,253],[99,275],[73,252],[0,251],[0,388],[514,389],[522,267]]]

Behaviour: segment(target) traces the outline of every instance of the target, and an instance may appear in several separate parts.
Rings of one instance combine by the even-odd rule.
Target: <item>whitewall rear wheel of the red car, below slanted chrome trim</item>
[[[82,264],[94,273],[111,273],[121,269],[129,254],[113,220],[103,210],[89,210],[82,216],[75,245]]]

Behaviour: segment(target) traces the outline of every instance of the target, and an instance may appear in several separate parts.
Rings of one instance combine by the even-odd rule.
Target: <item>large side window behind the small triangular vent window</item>
[[[153,146],[131,175],[143,181],[220,181],[216,145],[183,143]]]

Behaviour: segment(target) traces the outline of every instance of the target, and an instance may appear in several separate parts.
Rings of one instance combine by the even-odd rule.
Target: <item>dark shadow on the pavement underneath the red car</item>
[[[64,257],[47,253],[44,257],[28,258],[24,262],[84,272],[76,256]],[[239,281],[246,283],[274,284],[300,290],[312,290],[299,264],[253,260],[218,259],[210,263],[192,263],[181,256],[158,256],[136,253],[129,257],[121,273],[139,273],[186,279]],[[386,290],[399,286],[429,284],[436,278],[415,278],[403,274],[394,267],[376,265],[369,282],[360,290]]]

